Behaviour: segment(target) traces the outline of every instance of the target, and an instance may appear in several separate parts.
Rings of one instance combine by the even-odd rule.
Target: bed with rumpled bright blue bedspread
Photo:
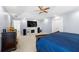
[[[79,34],[56,32],[36,40],[37,52],[79,52]]]

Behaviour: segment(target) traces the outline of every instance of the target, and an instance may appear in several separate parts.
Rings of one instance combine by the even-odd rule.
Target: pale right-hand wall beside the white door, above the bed
[[[71,12],[63,16],[63,31],[79,34],[79,11]]]

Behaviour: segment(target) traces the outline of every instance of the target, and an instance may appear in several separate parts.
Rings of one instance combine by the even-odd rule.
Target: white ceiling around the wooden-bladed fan
[[[34,18],[42,19],[46,17],[53,17],[54,15],[64,15],[66,13],[79,10],[79,6],[49,6],[48,13],[39,14],[37,6],[5,6],[6,12],[11,15],[17,15],[18,18]]]

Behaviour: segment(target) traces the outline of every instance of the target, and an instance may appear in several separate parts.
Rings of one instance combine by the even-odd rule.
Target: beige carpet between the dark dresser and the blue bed
[[[17,35],[17,49],[13,52],[35,52],[36,51],[36,37],[35,34],[28,34],[23,36]]]

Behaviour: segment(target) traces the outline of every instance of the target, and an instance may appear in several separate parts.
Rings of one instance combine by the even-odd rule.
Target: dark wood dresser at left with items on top
[[[16,32],[3,32],[2,33],[2,44],[1,51],[2,52],[10,52],[16,50]]]

